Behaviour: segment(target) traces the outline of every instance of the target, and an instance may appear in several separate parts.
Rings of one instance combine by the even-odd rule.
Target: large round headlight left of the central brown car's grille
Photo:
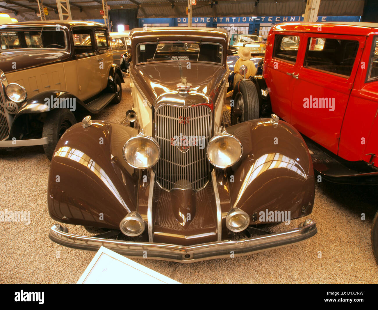
[[[133,168],[151,168],[160,158],[159,143],[152,137],[138,134],[125,143],[123,157]]]

